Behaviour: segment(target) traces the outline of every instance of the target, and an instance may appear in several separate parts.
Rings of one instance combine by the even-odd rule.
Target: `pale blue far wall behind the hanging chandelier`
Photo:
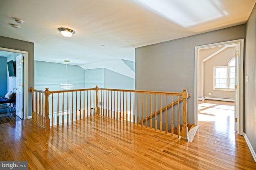
[[[80,66],[35,61],[35,89],[62,90],[59,84],[63,78],[72,78],[74,87],[72,89],[84,88],[84,69]]]

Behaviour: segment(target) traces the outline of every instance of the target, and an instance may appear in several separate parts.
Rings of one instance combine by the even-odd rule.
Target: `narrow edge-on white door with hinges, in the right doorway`
[[[236,66],[235,66],[235,131],[238,131],[238,70],[239,70],[239,47],[236,44]]]

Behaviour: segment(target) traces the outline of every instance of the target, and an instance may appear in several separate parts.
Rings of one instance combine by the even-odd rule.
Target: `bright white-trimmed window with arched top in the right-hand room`
[[[228,66],[214,66],[214,90],[234,90],[235,88],[235,58]]]

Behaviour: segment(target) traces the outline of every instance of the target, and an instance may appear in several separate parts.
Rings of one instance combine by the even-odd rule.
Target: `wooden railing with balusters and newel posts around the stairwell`
[[[178,137],[182,124],[181,138],[188,140],[186,89],[177,93],[106,89],[96,86],[90,89],[59,91],[30,88],[30,92],[33,93],[32,119],[45,129],[99,114],[155,131],[168,133],[168,129],[171,129],[171,135],[174,135],[174,127],[177,127]],[[183,107],[177,102],[180,100],[183,101]]]

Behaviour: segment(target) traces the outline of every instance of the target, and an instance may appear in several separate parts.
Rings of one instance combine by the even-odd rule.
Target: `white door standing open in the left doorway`
[[[23,60],[24,54],[16,57],[16,115],[23,119],[23,93],[24,93],[24,80],[23,80]]]

